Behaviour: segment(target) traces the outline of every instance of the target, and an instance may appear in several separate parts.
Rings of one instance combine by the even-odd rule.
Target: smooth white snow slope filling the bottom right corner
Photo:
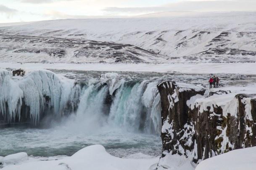
[[[237,149],[203,160],[195,170],[255,170],[256,147]]]

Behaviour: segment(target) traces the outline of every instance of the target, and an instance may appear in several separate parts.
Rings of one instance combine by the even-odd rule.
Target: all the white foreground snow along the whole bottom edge
[[[166,170],[254,170],[256,147],[237,149],[218,155],[194,165],[179,155],[167,155],[160,169]],[[92,145],[79,150],[71,157],[27,157],[18,153],[3,157],[3,170],[155,170],[159,157],[136,154],[128,158],[109,155],[101,145]],[[14,165],[15,164],[15,165]],[[196,168],[195,168],[196,166]]]

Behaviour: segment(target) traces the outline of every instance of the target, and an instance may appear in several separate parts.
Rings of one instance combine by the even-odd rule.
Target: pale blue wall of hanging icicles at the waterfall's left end
[[[46,108],[53,114],[63,113],[73,87],[74,81],[47,70],[31,71],[24,77],[0,70],[0,111],[6,121],[20,121],[28,114],[27,119],[37,124]]]

